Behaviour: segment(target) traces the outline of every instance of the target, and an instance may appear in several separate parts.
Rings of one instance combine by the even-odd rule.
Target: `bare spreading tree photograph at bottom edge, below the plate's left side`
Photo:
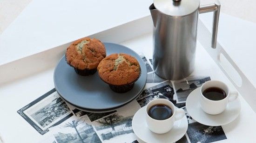
[[[57,143],[101,143],[90,123],[87,115],[73,116],[50,130]]]

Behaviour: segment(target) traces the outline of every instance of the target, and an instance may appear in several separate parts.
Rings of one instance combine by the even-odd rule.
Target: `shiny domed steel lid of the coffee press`
[[[183,16],[199,8],[200,0],[154,0],[155,8],[170,16]]]

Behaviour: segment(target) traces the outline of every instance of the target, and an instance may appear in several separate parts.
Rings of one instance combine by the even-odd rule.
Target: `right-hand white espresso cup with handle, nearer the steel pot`
[[[221,100],[207,99],[203,96],[202,93],[210,87],[221,88],[226,93],[226,97]],[[216,115],[222,113],[226,109],[228,103],[235,100],[238,97],[238,93],[230,93],[229,87],[222,81],[207,81],[201,86],[199,96],[202,110],[208,114]]]

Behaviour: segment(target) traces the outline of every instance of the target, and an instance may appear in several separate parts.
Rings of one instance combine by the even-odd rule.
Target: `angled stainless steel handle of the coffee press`
[[[199,13],[213,12],[212,42],[211,42],[211,46],[213,49],[216,48],[216,43],[217,43],[220,8],[221,8],[221,4],[219,0],[216,0],[214,4],[203,5],[199,7]]]

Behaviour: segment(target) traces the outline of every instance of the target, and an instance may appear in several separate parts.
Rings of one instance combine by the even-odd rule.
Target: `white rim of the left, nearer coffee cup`
[[[173,111],[173,114],[172,114],[171,117],[169,117],[169,118],[167,118],[167,119],[164,119],[164,120],[157,120],[157,119],[152,118],[152,117],[150,117],[150,116],[148,115],[148,110],[149,110],[148,105],[149,105],[149,103],[156,102],[157,100],[159,100],[159,101],[160,101],[160,100],[166,100],[166,101],[168,101],[168,102],[170,103],[171,107],[170,107],[169,105],[162,104],[162,103],[155,103],[155,104],[153,104],[152,106],[157,105],[157,104],[162,104],[162,105],[165,105],[165,106],[170,107],[170,108],[172,109],[172,111]],[[152,107],[152,106],[151,106],[151,107]],[[148,102],[148,104],[147,104],[147,106],[146,106],[146,113],[147,113],[147,116],[148,116],[150,119],[153,119],[153,121],[164,122],[164,121],[167,121],[168,119],[174,117],[174,115],[175,115],[175,113],[176,113],[176,109],[175,109],[174,104],[173,104],[171,101],[169,101],[168,99],[153,99],[153,100],[151,100],[150,102]]]

